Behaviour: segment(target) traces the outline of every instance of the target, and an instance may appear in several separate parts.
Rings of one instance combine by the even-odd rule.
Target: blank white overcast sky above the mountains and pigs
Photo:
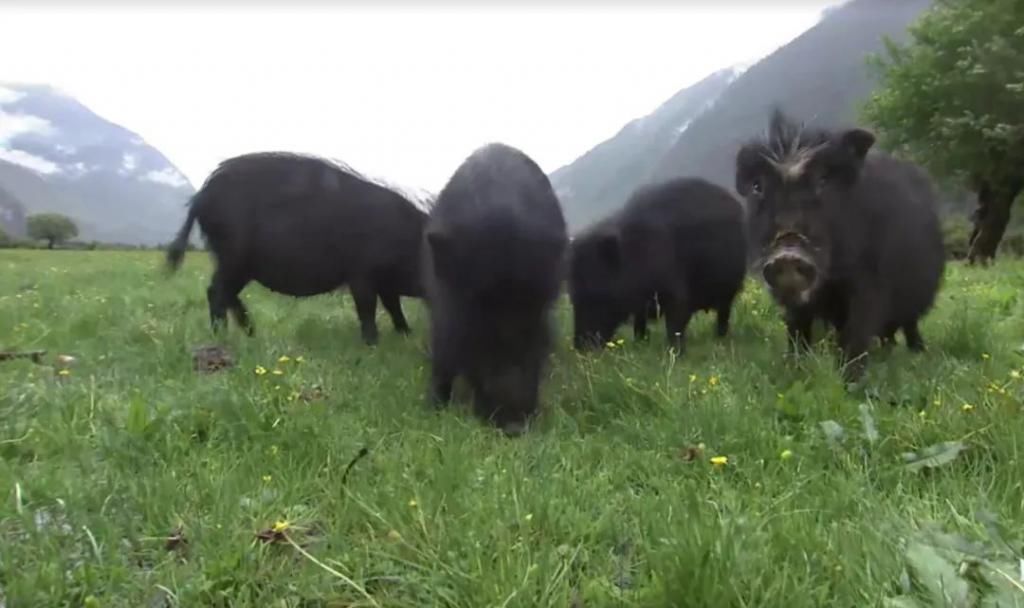
[[[0,82],[68,91],[197,186],[225,158],[288,149],[436,191],[488,141],[553,171],[836,3],[4,4]]]

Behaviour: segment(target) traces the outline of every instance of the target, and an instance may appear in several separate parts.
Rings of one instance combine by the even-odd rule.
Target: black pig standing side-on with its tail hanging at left
[[[198,221],[215,259],[207,289],[214,331],[230,309],[252,334],[239,293],[250,280],[290,296],[348,286],[362,340],[378,339],[377,298],[399,333],[400,296],[422,297],[420,242],[427,215],[398,192],[323,159],[257,153],[228,159],[193,197],[167,252],[184,257]]]

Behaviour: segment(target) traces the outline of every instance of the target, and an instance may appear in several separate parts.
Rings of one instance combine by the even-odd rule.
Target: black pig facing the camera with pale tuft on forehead
[[[845,377],[858,380],[872,338],[918,329],[945,267],[931,179],[918,166],[871,151],[863,129],[796,125],[779,110],[766,136],[736,155],[736,190],[748,202],[753,264],[785,308],[793,345],[815,318],[839,332]]]

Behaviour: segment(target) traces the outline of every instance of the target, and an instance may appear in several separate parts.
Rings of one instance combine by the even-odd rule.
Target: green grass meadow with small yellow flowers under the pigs
[[[929,351],[852,392],[754,284],[678,360],[575,355],[562,302],[518,439],[426,407],[413,301],[370,349],[347,295],[251,285],[197,374],[210,265],[161,263],[0,251],[0,348],[48,351],[0,362],[0,606],[1024,606],[1024,263],[950,264]]]

